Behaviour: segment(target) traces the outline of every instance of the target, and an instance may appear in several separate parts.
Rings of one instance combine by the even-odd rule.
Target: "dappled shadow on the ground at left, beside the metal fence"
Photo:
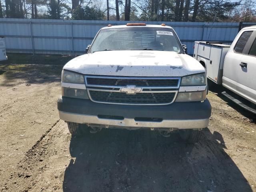
[[[60,82],[62,67],[73,57],[42,54],[8,54],[7,61],[0,61],[0,75],[4,76],[2,86],[20,83],[41,84]]]

